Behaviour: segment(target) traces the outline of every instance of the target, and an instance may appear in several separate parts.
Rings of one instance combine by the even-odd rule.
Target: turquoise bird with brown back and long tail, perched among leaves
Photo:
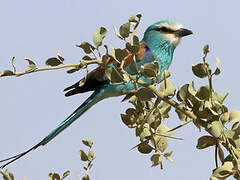
[[[179,45],[181,38],[190,34],[192,34],[191,30],[185,29],[182,24],[173,20],[161,20],[150,25],[144,32],[143,39],[140,41],[140,48],[136,55],[137,67],[140,68],[146,63],[157,61],[160,64],[159,71],[161,74],[164,70],[169,68],[173,59],[174,50]],[[132,60],[133,56],[129,56],[126,61],[127,63],[124,64],[124,70],[134,75],[128,66]],[[109,61],[106,62],[106,65],[112,66],[112,63]],[[87,74],[85,77],[85,83],[82,86],[79,86],[80,80],[72,86],[64,89],[64,91],[67,91],[65,94],[67,97],[88,91],[93,91],[93,93],[39,143],[32,146],[25,152],[0,160],[0,163],[5,163],[0,166],[0,168],[6,167],[29,152],[49,143],[99,101],[109,97],[127,94],[134,89],[134,85],[131,82],[127,82],[125,84],[110,83],[110,80],[106,77],[105,69],[106,68],[102,66],[98,66],[96,69]],[[143,78],[142,80],[149,83],[146,78]]]

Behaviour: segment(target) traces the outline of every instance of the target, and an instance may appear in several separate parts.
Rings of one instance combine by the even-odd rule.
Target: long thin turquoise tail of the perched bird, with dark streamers
[[[66,129],[70,124],[72,124],[76,119],[78,119],[84,112],[91,108],[94,104],[102,100],[99,91],[95,91],[86,101],[84,101],[70,116],[68,116],[63,122],[61,122],[53,131],[51,131],[45,138],[42,139],[38,144],[31,147],[25,152],[17,154],[15,156],[9,157],[7,159],[0,160],[0,163],[5,162],[0,168],[4,168],[17,159],[23,157],[29,152],[37,149],[39,146],[43,146],[50,142],[54,137],[56,137],[60,132]]]

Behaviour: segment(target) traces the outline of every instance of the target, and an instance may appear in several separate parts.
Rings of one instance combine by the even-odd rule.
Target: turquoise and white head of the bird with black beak
[[[169,45],[175,48],[180,43],[182,37],[190,34],[192,34],[192,31],[184,29],[180,23],[171,20],[163,20],[147,28],[144,33],[143,41],[147,44],[151,43],[150,41],[159,41],[159,43],[168,42]]]

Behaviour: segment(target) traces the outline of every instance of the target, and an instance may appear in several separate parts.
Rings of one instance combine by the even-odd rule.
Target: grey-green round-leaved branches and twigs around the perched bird
[[[228,93],[222,95],[213,87],[213,77],[221,73],[220,60],[216,58],[216,68],[212,70],[207,62],[207,55],[210,52],[209,45],[203,48],[202,62],[192,66],[193,74],[201,80],[207,80],[208,83],[197,87],[194,82],[182,85],[179,89],[168,79],[170,73],[162,73],[161,84],[157,89],[155,85],[159,83],[160,64],[158,62],[147,63],[140,69],[136,66],[137,56],[139,55],[139,38],[135,35],[140,23],[141,15],[131,15],[128,21],[120,26],[114,27],[115,35],[124,42],[125,48],[114,48],[103,44],[107,35],[107,29],[100,27],[93,34],[93,44],[82,42],[77,47],[81,48],[86,54],[80,63],[64,64],[64,58],[59,51],[57,57],[47,59],[46,65],[50,67],[38,68],[33,60],[28,57],[28,66],[24,72],[16,71],[15,57],[11,64],[13,70],[5,70],[0,73],[3,76],[20,76],[32,72],[70,68],[67,72],[74,73],[80,69],[86,69],[88,74],[88,65],[98,64],[105,68],[106,77],[111,83],[125,84],[133,83],[135,89],[128,93],[123,101],[131,104],[125,113],[121,114],[122,122],[130,129],[135,131],[138,143],[132,149],[137,149],[142,154],[149,154],[152,167],[159,166],[163,169],[164,159],[173,162],[173,150],[168,150],[169,138],[181,140],[173,136],[175,131],[185,125],[192,123],[199,130],[205,130],[208,135],[199,137],[196,148],[206,149],[215,148],[216,168],[210,177],[211,180],[222,180],[229,176],[240,179],[240,111],[228,110],[224,104]],[[125,64],[129,57],[134,61],[128,64],[130,70],[137,74],[135,76],[128,74],[125,70]],[[112,66],[108,66],[109,62]],[[140,80],[145,77],[152,80],[152,84],[146,84]],[[85,83],[85,79],[79,86]],[[169,112],[174,109],[181,124],[170,128],[166,125],[170,116]],[[231,127],[231,128],[227,128]],[[93,142],[91,139],[82,141],[89,148],[86,153],[79,151],[82,161],[87,162],[84,167],[85,175],[82,180],[89,179],[89,170],[95,158],[92,151]],[[221,162],[219,166],[218,161]],[[1,169],[0,169],[1,170]],[[13,175],[8,171],[0,171],[4,179],[13,179]],[[64,179],[68,176],[66,171],[62,178],[57,173],[50,173],[50,180]]]

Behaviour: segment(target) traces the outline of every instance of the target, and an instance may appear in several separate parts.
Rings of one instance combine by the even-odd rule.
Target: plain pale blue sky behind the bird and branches
[[[191,65],[201,61],[202,47],[210,45],[209,61],[221,59],[222,74],[214,78],[218,92],[230,91],[226,104],[239,109],[239,1],[80,1],[80,0],[21,0],[0,2],[0,71],[11,68],[16,56],[18,71],[24,70],[24,56],[45,66],[47,58],[59,49],[65,63],[78,62],[83,53],[74,47],[81,41],[92,40],[100,26],[109,30],[107,44],[121,45],[113,33],[113,25],[126,22],[130,14],[143,14],[138,30],[144,30],[162,19],[181,22],[194,34],[177,47],[170,67],[176,87],[196,79]],[[40,72],[23,77],[0,79],[0,159],[31,147],[64,120],[88,97],[87,94],[64,97],[62,90],[75,83],[83,73],[66,74],[65,70]],[[47,179],[49,172],[83,173],[78,150],[81,140],[92,137],[96,160],[90,177],[100,179],[209,179],[215,168],[214,148],[197,150],[199,132],[193,125],[179,129],[175,136],[184,141],[170,140],[168,150],[174,150],[174,163],[164,160],[164,170],[151,168],[150,155],[129,151],[138,142],[134,131],[120,119],[128,103],[122,97],[104,100],[90,109],[52,142],[18,160],[8,168],[16,179]],[[181,122],[172,112],[169,127]]]

